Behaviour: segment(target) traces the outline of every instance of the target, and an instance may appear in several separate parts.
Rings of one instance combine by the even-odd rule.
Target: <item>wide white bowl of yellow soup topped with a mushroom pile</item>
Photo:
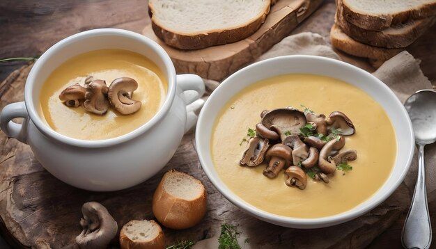
[[[277,113],[294,116],[283,121]],[[352,132],[335,127],[338,113]],[[325,136],[310,115],[323,117]],[[410,167],[412,134],[403,105],[373,75],[329,58],[283,56],[245,67],[221,83],[200,113],[196,148],[206,175],[233,204],[270,223],[315,228],[343,223],[385,200]],[[305,164],[309,136],[327,143],[313,165]],[[299,159],[297,142],[289,143],[294,138],[307,150]],[[339,140],[345,145],[336,154],[357,155],[325,170],[336,155],[325,147]],[[277,153],[288,156],[280,161]]]

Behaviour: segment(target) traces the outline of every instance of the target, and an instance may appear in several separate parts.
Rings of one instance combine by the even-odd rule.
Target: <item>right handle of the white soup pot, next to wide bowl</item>
[[[200,99],[205,92],[204,81],[196,74],[179,74],[177,85],[182,90],[181,97],[186,104],[185,133],[187,133],[197,122],[195,111],[201,109],[204,104],[204,100]]]

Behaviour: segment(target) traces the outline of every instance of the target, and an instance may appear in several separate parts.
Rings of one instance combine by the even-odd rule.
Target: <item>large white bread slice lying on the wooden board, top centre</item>
[[[202,49],[249,37],[265,22],[270,0],[150,0],[156,36],[178,49]]]

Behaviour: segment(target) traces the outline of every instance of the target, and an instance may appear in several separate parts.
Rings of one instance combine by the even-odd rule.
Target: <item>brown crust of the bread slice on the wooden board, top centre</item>
[[[267,0],[269,1],[269,0]],[[267,4],[265,11],[256,19],[242,26],[229,27],[229,29],[212,30],[208,33],[184,34],[180,31],[171,31],[159,24],[157,17],[153,15],[153,4],[148,3],[148,11],[151,16],[151,24],[156,36],[167,45],[178,49],[203,49],[215,45],[224,45],[231,42],[243,40],[254,34],[265,22],[267,14],[270,13],[271,4]]]

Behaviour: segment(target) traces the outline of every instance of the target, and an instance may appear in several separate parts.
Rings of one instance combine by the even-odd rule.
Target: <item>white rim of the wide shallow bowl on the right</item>
[[[407,127],[408,127],[408,131],[410,134],[410,136],[408,138],[412,143],[410,144],[411,148],[410,148],[410,153],[407,156],[406,166],[405,166],[403,172],[400,173],[400,177],[398,177],[398,179],[396,179],[396,181],[394,182],[393,186],[391,188],[389,188],[387,191],[385,191],[377,200],[372,200],[372,199],[374,198],[375,193],[378,193],[380,191],[380,189],[382,188],[382,186],[384,186],[384,184],[386,184],[387,181],[384,182],[384,184],[380,188],[378,188],[378,190],[375,191],[375,193],[373,193],[373,195],[371,195],[371,197],[366,199],[364,202],[361,202],[356,207],[354,207],[348,211],[344,211],[342,213],[335,214],[332,216],[326,216],[326,217],[322,217],[322,218],[293,218],[293,217],[288,217],[288,216],[280,216],[277,214],[272,214],[272,213],[269,213],[267,211],[263,211],[262,209],[258,209],[257,207],[254,207],[253,205],[242,200],[238,195],[233,193],[233,191],[231,191],[229,188],[227,188],[226,185],[224,184],[224,182],[222,182],[221,179],[219,179],[219,177],[217,177],[217,179],[216,179],[212,175],[212,171],[216,171],[214,166],[213,165],[205,166],[205,165],[207,165],[207,163],[205,163],[205,160],[203,159],[203,158],[205,158],[205,156],[210,156],[210,152],[203,152],[202,151],[204,145],[203,145],[203,141],[201,139],[201,137],[202,137],[201,131],[203,129],[205,129],[205,128],[203,128],[203,124],[202,124],[201,120],[203,120],[203,116],[205,115],[205,110],[209,109],[210,99],[213,99],[214,96],[219,93],[221,88],[224,88],[224,86],[226,86],[228,83],[230,83],[232,81],[232,79],[235,77],[235,75],[238,73],[243,73],[245,71],[249,71],[253,67],[259,67],[259,66],[264,65],[266,63],[270,63],[270,61],[291,60],[291,59],[292,60],[298,60],[298,59],[320,60],[320,61],[325,61],[327,63],[333,63],[333,64],[336,64],[338,66],[344,67],[344,70],[355,70],[361,74],[366,74],[366,76],[372,78],[374,81],[378,81],[377,83],[380,84],[380,87],[384,88],[384,90],[386,90],[387,94],[391,95],[391,97],[394,97],[397,106],[403,106],[403,104],[400,102],[398,97],[396,97],[396,95],[392,92],[392,90],[388,86],[386,86],[386,84],[384,84],[382,81],[380,81],[380,79],[377,79],[375,76],[373,76],[373,74],[370,74],[369,72],[366,72],[365,70],[362,70],[359,67],[355,67],[354,65],[345,63],[343,61],[338,61],[338,60],[335,60],[332,58],[327,58],[327,57],[322,57],[322,56],[306,56],[306,55],[278,56],[278,57],[274,57],[274,58],[269,58],[269,59],[266,59],[264,61],[259,61],[257,63],[253,63],[251,65],[248,65],[247,67],[244,67],[241,70],[238,70],[238,72],[235,72],[234,74],[232,74],[230,77],[228,77],[226,80],[224,80],[217,87],[217,89],[215,89],[212,92],[212,94],[210,95],[208,100],[205,102],[203,109],[201,109],[201,112],[198,115],[198,122],[197,122],[197,127],[196,127],[196,151],[198,154],[198,160],[200,161],[201,167],[203,168],[205,174],[208,176],[208,179],[210,180],[210,182],[212,182],[212,184],[215,186],[215,188],[217,188],[217,190],[222,195],[224,195],[224,197],[227,200],[229,200],[230,202],[235,204],[235,206],[239,207],[240,209],[248,211],[250,214],[256,216],[257,218],[260,218],[260,220],[265,220],[269,223],[274,223],[276,225],[282,225],[282,226],[286,226],[286,227],[296,227],[296,228],[316,228],[316,227],[319,228],[319,227],[328,227],[328,226],[332,226],[332,225],[338,225],[338,224],[344,223],[348,220],[352,220],[354,218],[357,218],[357,217],[365,214],[368,211],[371,211],[372,209],[377,207],[381,202],[386,200],[392,193],[394,193],[396,188],[398,188],[398,186],[401,184],[401,182],[403,182],[403,179],[404,179],[405,175],[407,174],[407,172],[410,168],[410,165],[412,163],[412,158],[413,158],[413,154],[414,154],[414,135],[413,135],[414,133],[413,133],[413,129],[412,129],[412,122],[410,121],[409,115],[407,114],[407,111],[405,110],[404,106],[403,106],[403,108],[400,108],[400,111],[401,111],[400,114],[402,116],[404,116],[405,120],[407,120]],[[236,94],[238,94],[238,93],[233,93],[233,95],[231,95],[231,97],[235,96]],[[226,103],[223,103],[220,106],[221,109],[224,106],[224,104],[226,104]],[[389,114],[388,114],[388,116],[389,116]],[[216,116],[215,116],[215,119],[216,119]],[[214,122],[215,122],[215,119],[214,119]],[[208,136],[209,136],[208,140],[210,140],[211,134],[208,134]],[[398,140],[397,140],[397,144],[398,144]],[[397,147],[397,154],[398,154],[398,147]],[[212,168],[213,168],[213,170],[212,170]],[[392,172],[394,172],[394,170],[391,171],[388,179],[391,177]],[[363,205],[363,204],[365,204],[367,202],[371,202],[371,201],[373,201],[371,204],[368,204],[367,206]]]

